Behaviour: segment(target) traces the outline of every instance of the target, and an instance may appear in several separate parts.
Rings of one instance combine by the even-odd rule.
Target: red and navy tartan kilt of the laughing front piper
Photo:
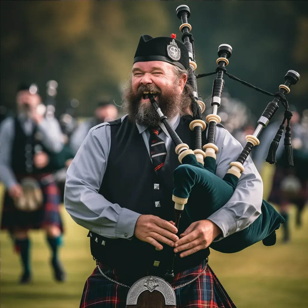
[[[108,269],[101,263],[99,267],[107,277],[121,283],[115,270]],[[190,282],[200,273],[196,280]],[[186,282],[190,283],[179,288]],[[176,294],[177,308],[236,308],[206,260],[192,269],[176,274],[171,286]],[[85,283],[79,308],[125,308],[128,290],[128,287],[105,278],[96,267]]]

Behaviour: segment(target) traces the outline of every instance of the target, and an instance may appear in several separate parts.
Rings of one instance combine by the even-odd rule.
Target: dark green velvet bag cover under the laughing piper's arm
[[[198,163],[193,154],[188,154],[182,159],[182,165],[173,172],[173,195],[188,198],[184,210],[191,221],[203,220],[229,201],[237,182],[238,178],[230,173],[224,179],[219,178]],[[274,231],[282,222],[282,216],[263,200],[261,215],[249,227],[212,243],[210,247],[220,252],[234,253],[265,238],[265,245],[274,245]]]

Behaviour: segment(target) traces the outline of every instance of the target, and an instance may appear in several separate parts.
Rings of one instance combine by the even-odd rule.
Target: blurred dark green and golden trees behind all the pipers
[[[80,102],[78,115],[91,115],[101,95],[120,105],[140,35],[173,32],[180,39],[175,10],[188,4],[197,73],[213,71],[217,47],[228,43],[233,47],[228,71],[265,90],[277,91],[286,71],[298,70],[302,78],[288,99],[303,109],[308,3],[298,3],[1,1],[1,96],[7,107],[14,106],[17,84],[27,80],[38,83],[44,97],[47,80],[55,79],[58,112],[73,97]],[[198,80],[204,99],[211,94],[212,77]],[[271,100],[228,78],[225,87],[255,114]]]

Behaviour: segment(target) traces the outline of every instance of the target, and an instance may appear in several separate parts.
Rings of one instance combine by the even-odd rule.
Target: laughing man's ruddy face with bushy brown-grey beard
[[[124,110],[138,123],[157,125],[159,117],[148,99],[148,92],[152,92],[162,112],[171,119],[180,113],[186,80],[186,74],[180,78],[175,75],[170,63],[137,62],[132,68],[131,85],[123,96]]]

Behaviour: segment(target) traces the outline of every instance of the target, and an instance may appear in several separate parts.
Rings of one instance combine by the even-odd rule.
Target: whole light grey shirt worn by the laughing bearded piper
[[[179,122],[180,116],[169,121],[173,129]],[[147,126],[136,125],[150,155]],[[167,134],[163,130],[159,137],[168,150],[172,140]],[[84,228],[109,238],[129,239],[134,234],[136,221],[141,214],[125,208],[125,204],[112,204],[98,193],[108,163],[110,143],[111,129],[108,123],[91,128],[67,170],[64,204],[72,219]],[[219,149],[216,175],[223,178],[230,168],[230,162],[237,160],[242,147],[220,124],[217,126],[215,143]],[[261,214],[261,176],[250,157],[244,167],[245,172],[233,196],[208,218],[222,230],[220,239],[245,229]]]

